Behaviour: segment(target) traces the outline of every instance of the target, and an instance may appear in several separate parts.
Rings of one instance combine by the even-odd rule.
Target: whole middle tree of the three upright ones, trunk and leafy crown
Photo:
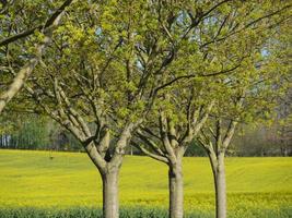
[[[170,68],[172,77],[164,78],[172,87],[161,92],[152,117],[132,141],[142,153],[168,166],[170,217],[183,217],[182,159],[214,105],[220,107],[222,84],[231,83],[230,75],[242,75],[241,71],[253,68],[259,48],[265,47],[278,23],[287,19],[284,13],[290,5],[279,4],[271,10],[271,3],[201,2],[188,8],[180,19],[183,23],[194,17],[199,22],[194,25],[187,48],[178,52],[184,61]],[[229,76],[222,80],[221,75]]]

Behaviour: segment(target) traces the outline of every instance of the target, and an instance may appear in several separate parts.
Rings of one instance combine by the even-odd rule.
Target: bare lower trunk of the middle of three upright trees
[[[184,181],[182,171],[182,159],[170,164],[168,185],[170,185],[170,218],[183,218],[184,216]]]

